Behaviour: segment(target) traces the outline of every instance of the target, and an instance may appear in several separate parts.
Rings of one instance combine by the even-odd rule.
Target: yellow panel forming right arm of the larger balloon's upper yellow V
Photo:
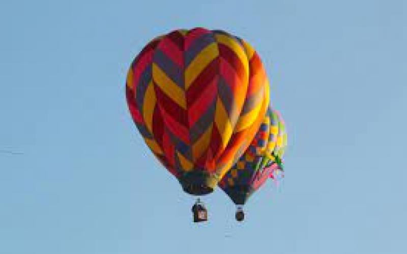
[[[219,55],[218,45],[214,42],[195,56],[184,72],[185,88],[188,89],[198,75]]]

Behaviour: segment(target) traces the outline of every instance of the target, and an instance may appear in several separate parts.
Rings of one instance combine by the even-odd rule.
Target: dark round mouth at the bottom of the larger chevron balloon
[[[205,171],[186,172],[178,179],[184,189],[184,192],[195,195],[207,195],[213,192],[213,184],[216,185],[213,177]]]

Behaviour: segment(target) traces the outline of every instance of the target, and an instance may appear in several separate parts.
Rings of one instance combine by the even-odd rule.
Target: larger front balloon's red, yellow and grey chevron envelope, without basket
[[[261,60],[220,30],[175,30],[135,57],[126,82],[138,131],[185,192],[212,192],[249,146],[269,105]]]

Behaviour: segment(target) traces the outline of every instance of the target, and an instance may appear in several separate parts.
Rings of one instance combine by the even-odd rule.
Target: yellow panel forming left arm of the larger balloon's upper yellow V
[[[168,78],[156,63],[153,63],[153,80],[169,98],[183,109],[187,108],[184,90]]]

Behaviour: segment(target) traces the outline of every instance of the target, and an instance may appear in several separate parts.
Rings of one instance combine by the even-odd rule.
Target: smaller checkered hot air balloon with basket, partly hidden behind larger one
[[[243,205],[271,177],[282,177],[287,134],[279,112],[269,109],[248,149],[219,182],[236,204],[236,219],[244,219]]]

